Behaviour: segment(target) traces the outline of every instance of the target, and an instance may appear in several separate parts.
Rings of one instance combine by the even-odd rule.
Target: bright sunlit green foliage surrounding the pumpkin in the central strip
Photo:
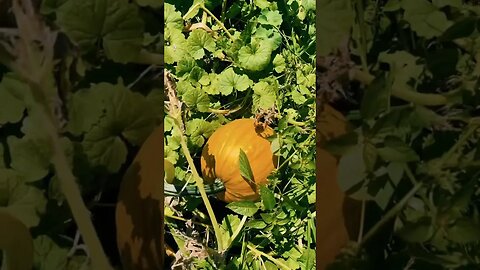
[[[221,9],[203,1],[165,3],[165,63],[184,104],[189,155],[198,159],[219,126],[267,112],[279,169],[261,187],[259,202],[225,206],[210,198],[226,252],[211,250],[215,237],[196,240],[210,250],[205,262],[182,250],[178,239],[190,239],[192,229],[204,235],[201,225],[169,219],[168,233],[192,269],[315,269],[315,2],[217,2]],[[182,130],[165,112],[165,158],[175,164],[177,184],[190,185]],[[239,160],[242,176],[252,179],[254,161],[243,151]],[[173,200],[176,215],[210,224],[204,210],[190,210],[197,198]]]

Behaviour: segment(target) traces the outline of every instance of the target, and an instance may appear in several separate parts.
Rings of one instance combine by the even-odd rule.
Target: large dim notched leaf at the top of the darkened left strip
[[[69,0],[57,10],[57,24],[85,51],[102,41],[119,63],[135,61],[142,48],[144,22],[127,0]]]

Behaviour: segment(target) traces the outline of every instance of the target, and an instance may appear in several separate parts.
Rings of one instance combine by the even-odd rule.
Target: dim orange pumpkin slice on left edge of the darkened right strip
[[[328,104],[317,119],[317,254],[319,269],[325,269],[356,238],[361,203],[340,189],[338,158],[322,149],[323,143],[349,131],[347,120]]]

